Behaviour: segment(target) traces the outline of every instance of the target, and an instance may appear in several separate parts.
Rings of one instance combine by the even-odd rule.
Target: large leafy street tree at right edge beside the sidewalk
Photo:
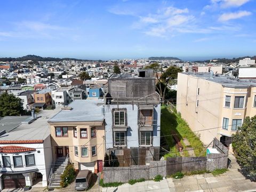
[[[232,147],[237,162],[249,172],[251,177],[256,177],[256,115],[246,117],[242,127],[238,127],[236,134],[232,135]]]

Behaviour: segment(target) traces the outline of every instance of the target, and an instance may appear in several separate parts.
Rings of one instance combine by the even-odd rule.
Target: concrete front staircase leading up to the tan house
[[[67,157],[59,157],[55,164],[52,167],[51,171],[51,178],[49,182],[48,188],[57,188],[60,186],[60,175],[65,170],[66,165],[68,164],[68,158]]]

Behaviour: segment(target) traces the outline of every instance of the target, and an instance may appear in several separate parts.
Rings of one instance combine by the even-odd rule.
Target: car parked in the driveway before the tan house
[[[89,188],[92,181],[92,171],[82,170],[79,171],[76,177],[76,190],[86,190]]]

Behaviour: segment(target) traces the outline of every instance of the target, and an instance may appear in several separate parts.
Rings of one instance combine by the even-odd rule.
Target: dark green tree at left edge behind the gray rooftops
[[[23,103],[20,98],[13,94],[3,93],[0,95],[0,116],[18,116],[22,115]]]

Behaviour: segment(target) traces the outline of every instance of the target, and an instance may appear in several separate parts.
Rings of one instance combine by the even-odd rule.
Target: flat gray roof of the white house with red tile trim
[[[43,110],[41,113],[37,114],[38,118],[33,123],[30,123],[30,124],[21,124],[21,120],[19,120],[19,124],[17,122],[16,124],[17,126],[14,127],[10,132],[7,132],[1,135],[0,141],[2,140],[44,140],[51,133],[50,127],[47,121],[49,120],[49,118],[57,114],[60,110],[61,110],[60,107],[55,108],[54,110]],[[25,119],[29,117],[30,116],[24,117],[23,121],[25,121]],[[12,125],[11,123],[13,121],[15,121],[15,119],[12,119],[12,117],[9,117],[9,121],[6,122],[6,124],[2,127],[1,130],[8,128],[10,125]],[[10,124],[7,124],[7,123],[10,123]]]

